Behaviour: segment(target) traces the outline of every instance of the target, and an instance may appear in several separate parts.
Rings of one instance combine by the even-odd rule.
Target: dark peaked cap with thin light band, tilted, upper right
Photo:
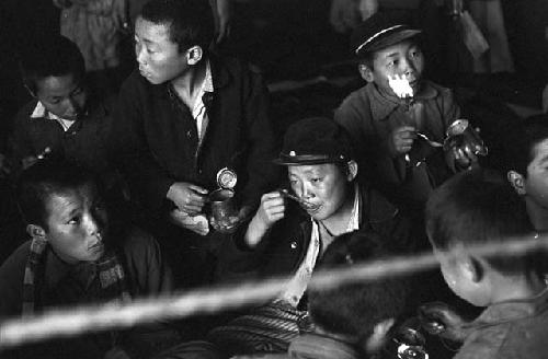
[[[362,22],[352,33],[350,43],[357,56],[363,56],[419,35],[422,31],[377,12]]]

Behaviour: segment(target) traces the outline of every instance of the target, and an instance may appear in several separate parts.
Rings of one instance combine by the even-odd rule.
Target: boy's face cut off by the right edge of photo
[[[537,143],[533,154],[527,176],[523,178],[525,195],[528,200],[548,210],[548,139]]]

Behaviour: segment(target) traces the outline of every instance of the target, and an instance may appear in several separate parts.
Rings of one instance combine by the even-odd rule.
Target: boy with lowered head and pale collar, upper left
[[[15,169],[47,157],[75,162],[109,181],[106,140],[112,104],[88,88],[83,57],[76,44],[62,36],[37,40],[23,54],[21,70],[34,100],[20,109],[9,137],[8,151]]]

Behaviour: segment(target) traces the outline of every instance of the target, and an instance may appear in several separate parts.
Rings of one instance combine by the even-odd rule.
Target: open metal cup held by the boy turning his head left
[[[209,224],[221,233],[231,233],[238,224],[238,208],[236,206],[235,192],[232,189],[219,188],[208,196],[210,218]]]

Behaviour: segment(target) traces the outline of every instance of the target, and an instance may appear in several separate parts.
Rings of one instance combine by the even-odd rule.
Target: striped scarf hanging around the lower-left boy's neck
[[[44,273],[44,259],[47,253],[47,241],[33,239],[31,251],[25,265],[25,275],[23,279],[23,316],[35,313],[36,310],[36,280]],[[116,298],[125,302],[130,299],[127,290],[124,268],[118,262],[114,251],[106,251],[103,256],[95,262],[99,280],[101,283],[101,297],[104,299]]]

